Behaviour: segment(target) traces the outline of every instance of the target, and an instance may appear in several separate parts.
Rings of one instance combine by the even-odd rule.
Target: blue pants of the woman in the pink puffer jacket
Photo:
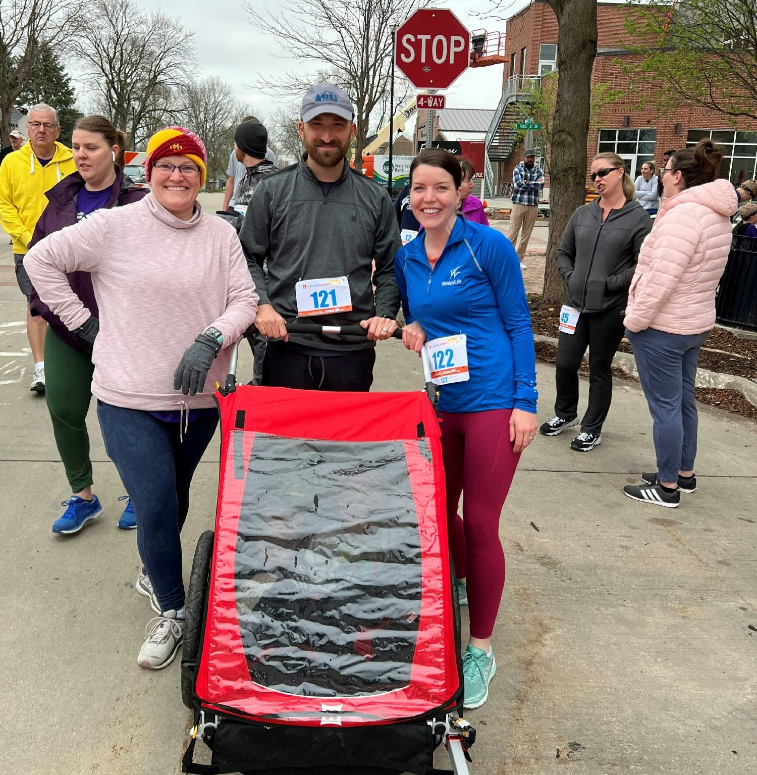
[[[660,481],[675,482],[679,470],[693,470],[697,456],[697,376],[699,348],[709,331],[670,334],[657,329],[625,335],[634,349],[638,378],[654,421]]]

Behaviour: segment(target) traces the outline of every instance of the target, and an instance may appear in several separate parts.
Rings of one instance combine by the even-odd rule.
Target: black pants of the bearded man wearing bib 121
[[[263,360],[263,384],[300,390],[367,392],[373,384],[376,350],[343,355],[305,355],[285,342],[269,342]]]

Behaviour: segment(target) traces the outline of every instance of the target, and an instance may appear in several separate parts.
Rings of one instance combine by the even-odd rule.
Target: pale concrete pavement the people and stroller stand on
[[[178,773],[189,722],[179,664],[136,664],[152,613],[133,588],[135,535],[115,527],[124,491],[94,408],[105,514],[77,536],[50,532],[69,493],[44,399],[28,391],[24,315],[0,246],[0,773]],[[250,365],[243,347],[246,378]],[[377,390],[420,382],[417,359],[380,346]],[[539,366],[539,390],[543,421],[550,367]],[[487,704],[467,716],[479,734],[472,775],[755,772],[755,425],[700,407],[699,490],[677,510],[621,494],[654,467],[638,385],[616,384],[602,446],[582,455],[569,440],[536,439],[504,508],[498,670]],[[217,460],[212,443],[184,529],[187,577],[212,526]]]

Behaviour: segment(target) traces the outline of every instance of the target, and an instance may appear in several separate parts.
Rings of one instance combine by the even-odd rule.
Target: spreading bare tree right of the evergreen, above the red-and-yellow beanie
[[[82,77],[136,146],[146,139],[150,119],[165,115],[165,98],[193,74],[194,33],[133,0],[94,0],[87,21],[75,50]]]

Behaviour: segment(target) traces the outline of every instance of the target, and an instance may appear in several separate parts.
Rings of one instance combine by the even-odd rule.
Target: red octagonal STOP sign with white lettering
[[[420,9],[397,30],[395,64],[415,88],[446,89],[466,71],[470,33],[452,11]]]

